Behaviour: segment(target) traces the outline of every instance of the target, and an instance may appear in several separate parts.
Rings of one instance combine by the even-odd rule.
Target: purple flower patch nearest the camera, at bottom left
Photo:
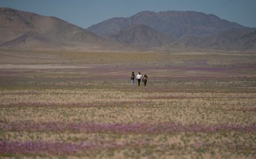
[[[115,149],[122,147],[140,147],[145,144],[144,141],[137,143],[123,143],[117,144],[113,142],[108,143],[52,143],[52,142],[13,142],[13,141],[0,141],[0,154],[76,154],[76,153],[89,153],[93,149]]]

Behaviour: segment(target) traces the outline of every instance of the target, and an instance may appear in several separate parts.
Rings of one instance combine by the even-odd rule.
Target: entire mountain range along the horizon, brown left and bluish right
[[[0,7],[1,48],[125,51],[256,49],[255,28],[192,11],[143,11],[129,18],[105,20],[88,30],[55,17]]]

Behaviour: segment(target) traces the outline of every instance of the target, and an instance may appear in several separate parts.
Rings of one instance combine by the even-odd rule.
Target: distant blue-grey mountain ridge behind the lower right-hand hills
[[[97,35],[114,34],[130,25],[143,24],[172,37],[208,36],[228,31],[244,29],[240,24],[228,22],[213,14],[194,11],[143,11],[129,18],[112,18],[92,25],[89,31]]]

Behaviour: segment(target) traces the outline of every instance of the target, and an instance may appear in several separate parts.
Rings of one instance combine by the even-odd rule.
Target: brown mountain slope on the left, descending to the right
[[[17,49],[126,49],[64,20],[0,7],[0,46]]]

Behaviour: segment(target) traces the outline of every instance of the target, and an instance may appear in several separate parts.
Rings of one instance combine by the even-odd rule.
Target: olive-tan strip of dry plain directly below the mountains
[[[1,64],[73,64],[114,66],[255,66],[253,53],[218,51],[79,52],[1,50]]]

